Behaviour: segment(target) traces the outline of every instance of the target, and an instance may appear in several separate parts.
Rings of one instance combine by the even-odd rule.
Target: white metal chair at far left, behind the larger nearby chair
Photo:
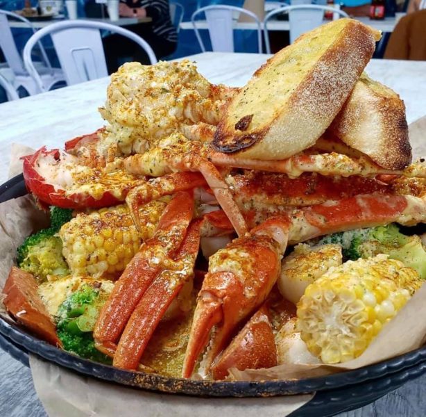
[[[22,57],[19,54],[15,40],[13,40],[8,17],[24,22],[28,28],[35,33],[35,28],[28,19],[15,13],[8,12],[7,10],[0,10],[0,49],[3,51],[6,63],[8,64],[8,67],[1,69],[0,72],[8,79],[15,90],[22,87],[25,88],[29,95],[36,94],[38,92],[38,85],[24,67]],[[50,90],[56,83],[65,83],[65,76],[62,70],[51,66],[41,42],[38,43],[38,47],[40,49],[42,61],[35,63],[35,65],[37,67],[37,72],[40,74],[40,82],[44,90]]]

